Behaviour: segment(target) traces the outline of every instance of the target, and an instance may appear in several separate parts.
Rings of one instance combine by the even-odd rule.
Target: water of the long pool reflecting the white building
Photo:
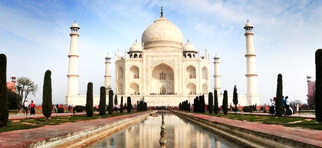
[[[161,114],[109,135],[85,148],[159,148]],[[237,144],[165,113],[167,148],[242,148]]]

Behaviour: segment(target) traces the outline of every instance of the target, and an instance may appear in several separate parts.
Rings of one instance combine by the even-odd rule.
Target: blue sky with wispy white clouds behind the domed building
[[[67,94],[71,25],[78,23],[79,93],[94,95],[105,84],[105,57],[124,55],[144,30],[163,16],[202,54],[220,57],[221,89],[234,85],[246,94],[247,19],[253,25],[261,105],[276,95],[283,75],[283,95],[307,101],[307,75],[315,80],[315,51],[322,48],[322,0],[0,0],[0,53],[7,56],[11,75],[28,77],[39,89],[29,100],[42,103],[46,70],[52,71],[53,103]],[[214,64],[211,59],[211,88]]]

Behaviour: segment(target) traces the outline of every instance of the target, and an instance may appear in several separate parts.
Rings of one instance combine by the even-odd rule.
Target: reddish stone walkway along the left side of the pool
[[[151,111],[149,111],[151,112]],[[112,124],[120,120],[127,118],[133,118],[142,114],[147,113],[146,111],[137,112],[132,114],[119,115],[104,119],[95,119],[87,121],[78,121],[74,123],[64,123],[54,126],[43,126],[35,129],[16,130],[10,132],[0,133],[0,148],[26,148],[33,147],[33,144],[41,141],[50,141],[53,137],[61,137],[70,133],[83,131],[87,129],[93,129],[106,124]],[[22,114],[23,115],[23,114]],[[28,114],[29,116],[30,114]],[[31,115],[32,117],[40,117],[42,114]],[[67,113],[59,114],[67,115]],[[20,118],[21,115],[10,115],[11,118]]]

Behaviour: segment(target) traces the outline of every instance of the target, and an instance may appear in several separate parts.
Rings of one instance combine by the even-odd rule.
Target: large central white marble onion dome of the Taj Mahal
[[[144,49],[153,47],[174,47],[181,49],[182,33],[169,20],[161,16],[154,21],[142,34]]]

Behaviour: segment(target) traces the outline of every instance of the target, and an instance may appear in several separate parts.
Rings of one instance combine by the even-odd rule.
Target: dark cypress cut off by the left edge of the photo
[[[6,127],[9,118],[6,71],[7,57],[5,54],[0,54],[0,127]]]

